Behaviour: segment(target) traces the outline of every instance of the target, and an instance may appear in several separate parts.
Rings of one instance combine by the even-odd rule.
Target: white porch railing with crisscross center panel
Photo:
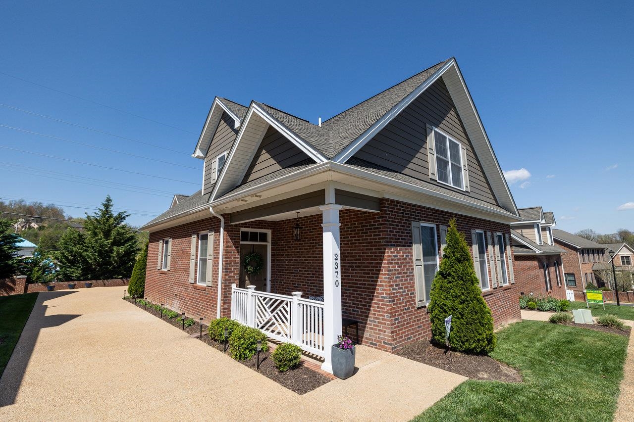
[[[323,302],[256,291],[231,285],[231,319],[260,329],[280,342],[298,345],[306,352],[324,356]]]

